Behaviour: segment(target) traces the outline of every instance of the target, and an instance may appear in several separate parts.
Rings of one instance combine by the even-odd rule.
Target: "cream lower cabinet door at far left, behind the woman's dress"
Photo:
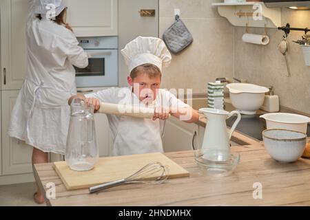
[[[10,115],[19,91],[1,91],[2,95],[2,175],[32,173],[32,147],[8,136]]]

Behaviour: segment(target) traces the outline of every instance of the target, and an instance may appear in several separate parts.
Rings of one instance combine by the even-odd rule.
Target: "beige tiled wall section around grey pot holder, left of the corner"
[[[211,8],[210,0],[160,0],[160,36],[174,22],[174,9],[180,9],[180,19],[192,32],[194,43],[173,56],[164,69],[163,87],[194,89],[207,92],[207,83],[218,77],[233,77],[234,27]]]

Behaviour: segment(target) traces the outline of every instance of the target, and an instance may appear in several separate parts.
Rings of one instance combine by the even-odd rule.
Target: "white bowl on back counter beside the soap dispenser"
[[[249,83],[229,83],[231,104],[245,115],[254,115],[264,104],[265,93],[269,91],[266,87]]]

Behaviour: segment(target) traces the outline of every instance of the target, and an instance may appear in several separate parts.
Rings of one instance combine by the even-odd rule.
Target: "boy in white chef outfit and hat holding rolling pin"
[[[127,77],[130,87],[105,89],[85,96],[79,94],[72,96],[69,103],[74,98],[82,98],[93,104],[96,111],[100,108],[100,102],[153,108],[152,120],[107,115],[114,136],[113,154],[163,152],[163,127],[169,115],[192,123],[198,121],[198,112],[169,91],[160,89],[162,67],[172,60],[161,39],[139,36],[121,52],[130,69],[130,76]]]

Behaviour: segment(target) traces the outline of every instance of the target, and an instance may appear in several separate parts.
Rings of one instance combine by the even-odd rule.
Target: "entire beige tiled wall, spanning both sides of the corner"
[[[206,85],[217,77],[245,78],[249,83],[274,87],[280,104],[310,113],[310,67],[304,65],[302,50],[291,42],[303,32],[289,34],[287,58],[291,78],[286,76],[285,58],[277,46],[283,32],[267,29],[267,46],[242,42],[245,28],[230,25],[220,17],[212,0],[160,0],[160,36],[174,21],[174,8],[192,32],[194,43],[184,52],[173,56],[172,65],[164,70],[163,87],[191,88],[194,93],[206,92]],[[282,9],[282,25],[310,28],[310,12]],[[249,32],[263,34],[263,28],[249,28]]]

